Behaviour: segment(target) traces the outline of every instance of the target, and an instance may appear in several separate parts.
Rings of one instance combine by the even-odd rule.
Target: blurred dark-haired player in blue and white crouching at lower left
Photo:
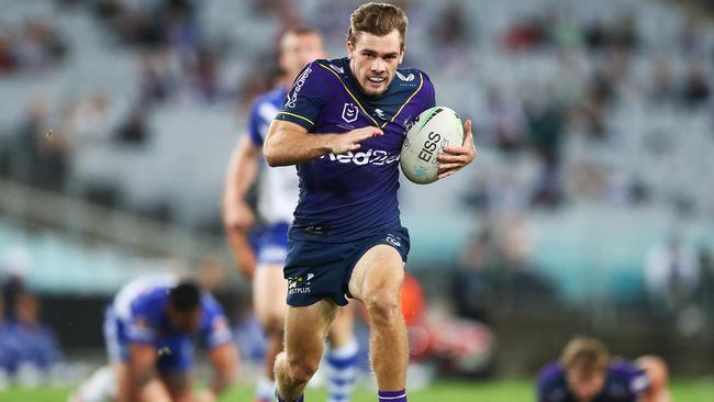
[[[193,391],[192,335],[200,333],[213,382]],[[100,369],[70,401],[212,402],[233,379],[237,353],[228,322],[213,297],[172,275],[124,286],[104,315],[111,370]]]

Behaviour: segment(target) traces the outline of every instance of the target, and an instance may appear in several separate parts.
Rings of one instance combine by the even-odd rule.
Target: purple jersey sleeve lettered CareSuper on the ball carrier
[[[325,104],[327,88],[331,85],[331,77],[326,72],[319,62],[305,66],[292,83],[292,89],[276,119],[295,123],[311,131]]]

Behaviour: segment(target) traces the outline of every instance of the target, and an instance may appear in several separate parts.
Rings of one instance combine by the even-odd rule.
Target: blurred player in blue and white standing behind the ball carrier
[[[223,214],[228,242],[239,268],[253,278],[255,313],[268,338],[265,373],[256,392],[257,401],[260,402],[274,399],[272,365],[283,347],[288,283],[283,279],[282,268],[288,254],[288,227],[299,197],[295,169],[271,168],[261,177],[258,212],[267,221],[267,228],[258,241],[257,258],[248,243],[254,212],[245,197],[256,181],[258,167],[264,160],[263,142],[268,126],[280,110],[288,89],[308,63],[322,57],[325,57],[325,52],[317,31],[301,27],[289,30],[282,35],[279,64],[283,77],[276,89],[255,101],[248,121],[248,135],[239,139],[226,177]],[[331,348],[326,358],[331,402],[349,401],[358,373],[358,347],[353,335],[354,313],[352,309],[341,310],[330,331]]]

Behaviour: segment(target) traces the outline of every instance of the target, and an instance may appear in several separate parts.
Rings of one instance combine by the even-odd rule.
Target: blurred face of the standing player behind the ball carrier
[[[280,68],[291,81],[308,63],[325,57],[322,37],[316,33],[288,33],[280,41]]]

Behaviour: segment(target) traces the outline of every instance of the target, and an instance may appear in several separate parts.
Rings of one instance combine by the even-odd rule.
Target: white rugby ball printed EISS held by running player
[[[435,107],[423,111],[406,130],[400,154],[404,176],[417,185],[438,179],[437,156],[446,146],[464,144],[464,127],[458,114],[449,108]]]

